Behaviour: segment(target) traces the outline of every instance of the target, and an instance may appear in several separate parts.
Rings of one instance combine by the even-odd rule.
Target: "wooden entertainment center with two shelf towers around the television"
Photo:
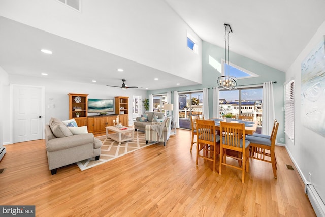
[[[107,126],[119,123],[128,127],[128,98],[115,97],[115,114],[88,116],[88,94],[68,94],[69,95],[69,119],[74,118],[78,126],[87,126],[89,133],[105,133]],[[77,117],[77,113],[79,117]]]

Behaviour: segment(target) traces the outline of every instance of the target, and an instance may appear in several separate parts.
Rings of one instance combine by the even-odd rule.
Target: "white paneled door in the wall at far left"
[[[13,142],[43,138],[43,87],[13,86]]]

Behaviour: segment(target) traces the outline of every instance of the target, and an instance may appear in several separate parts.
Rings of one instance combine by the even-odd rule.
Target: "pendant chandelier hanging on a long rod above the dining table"
[[[229,76],[229,33],[233,33],[232,28],[229,24],[223,24],[224,25],[224,75],[218,77],[218,86],[219,89],[226,89],[226,90],[232,90],[236,89],[237,83],[236,83],[236,77]],[[227,44],[227,29],[228,29],[228,44]],[[228,65],[227,63],[227,45],[228,45]],[[228,68],[228,69],[226,69]]]

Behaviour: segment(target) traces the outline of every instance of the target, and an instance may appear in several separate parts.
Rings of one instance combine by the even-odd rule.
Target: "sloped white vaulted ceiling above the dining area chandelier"
[[[325,21],[325,1],[165,0],[207,42],[285,72]]]

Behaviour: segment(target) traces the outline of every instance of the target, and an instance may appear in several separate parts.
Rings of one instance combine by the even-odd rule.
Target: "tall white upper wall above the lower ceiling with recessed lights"
[[[0,15],[46,32],[202,82],[202,42],[163,0],[81,1],[79,13],[54,0],[2,0]],[[199,53],[188,52],[187,32]]]

